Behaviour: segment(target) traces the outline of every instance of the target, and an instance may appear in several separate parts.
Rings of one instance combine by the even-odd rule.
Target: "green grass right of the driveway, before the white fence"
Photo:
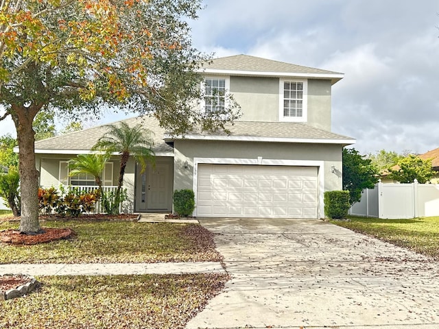
[[[439,260],[439,217],[416,219],[349,217],[349,219],[350,221],[331,221],[331,223]]]

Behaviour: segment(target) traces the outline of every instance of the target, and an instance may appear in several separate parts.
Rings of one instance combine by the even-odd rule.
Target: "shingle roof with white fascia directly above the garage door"
[[[312,127],[307,123],[235,121],[226,126],[230,135],[224,132],[206,134],[200,131],[191,132],[185,136],[165,135],[165,141],[176,139],[215,140],[215,141],[258,141],[284,143],[324,143],[351,145],[355,139],[334,134],[327,130]]]

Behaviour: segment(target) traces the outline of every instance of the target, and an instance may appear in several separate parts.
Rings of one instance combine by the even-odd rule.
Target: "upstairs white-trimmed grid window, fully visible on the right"
[[[307,81],[281,79],[279,88],[280,121],[307,121]]]

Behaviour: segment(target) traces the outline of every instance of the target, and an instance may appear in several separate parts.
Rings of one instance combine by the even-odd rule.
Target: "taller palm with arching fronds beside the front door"
[[[115,195],[115,206],[119,208],[121,200],[121,188],[126,164],[130,156],[141,165],[141,171],[145,171],[147,163],[154,163],[154,151],[152,151],[152,132],[140,123],[130,127],[128,123],[121,121],[119,125],[108,125],[108,131],[99,138],[93,146],[94,150],[104,151],[106,154],[120,154],[119,180]]]

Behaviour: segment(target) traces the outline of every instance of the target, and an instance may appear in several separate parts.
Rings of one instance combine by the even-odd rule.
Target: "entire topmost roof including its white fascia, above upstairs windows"
[[[206,63],[204,73],[230,74],[230,75],[265,75],[273,77],[307,77],[329,79],[332,84],[342,80],[343,73],[300,66],[277,60],[268,60],[248,55],[236,55],[215,58]]]

